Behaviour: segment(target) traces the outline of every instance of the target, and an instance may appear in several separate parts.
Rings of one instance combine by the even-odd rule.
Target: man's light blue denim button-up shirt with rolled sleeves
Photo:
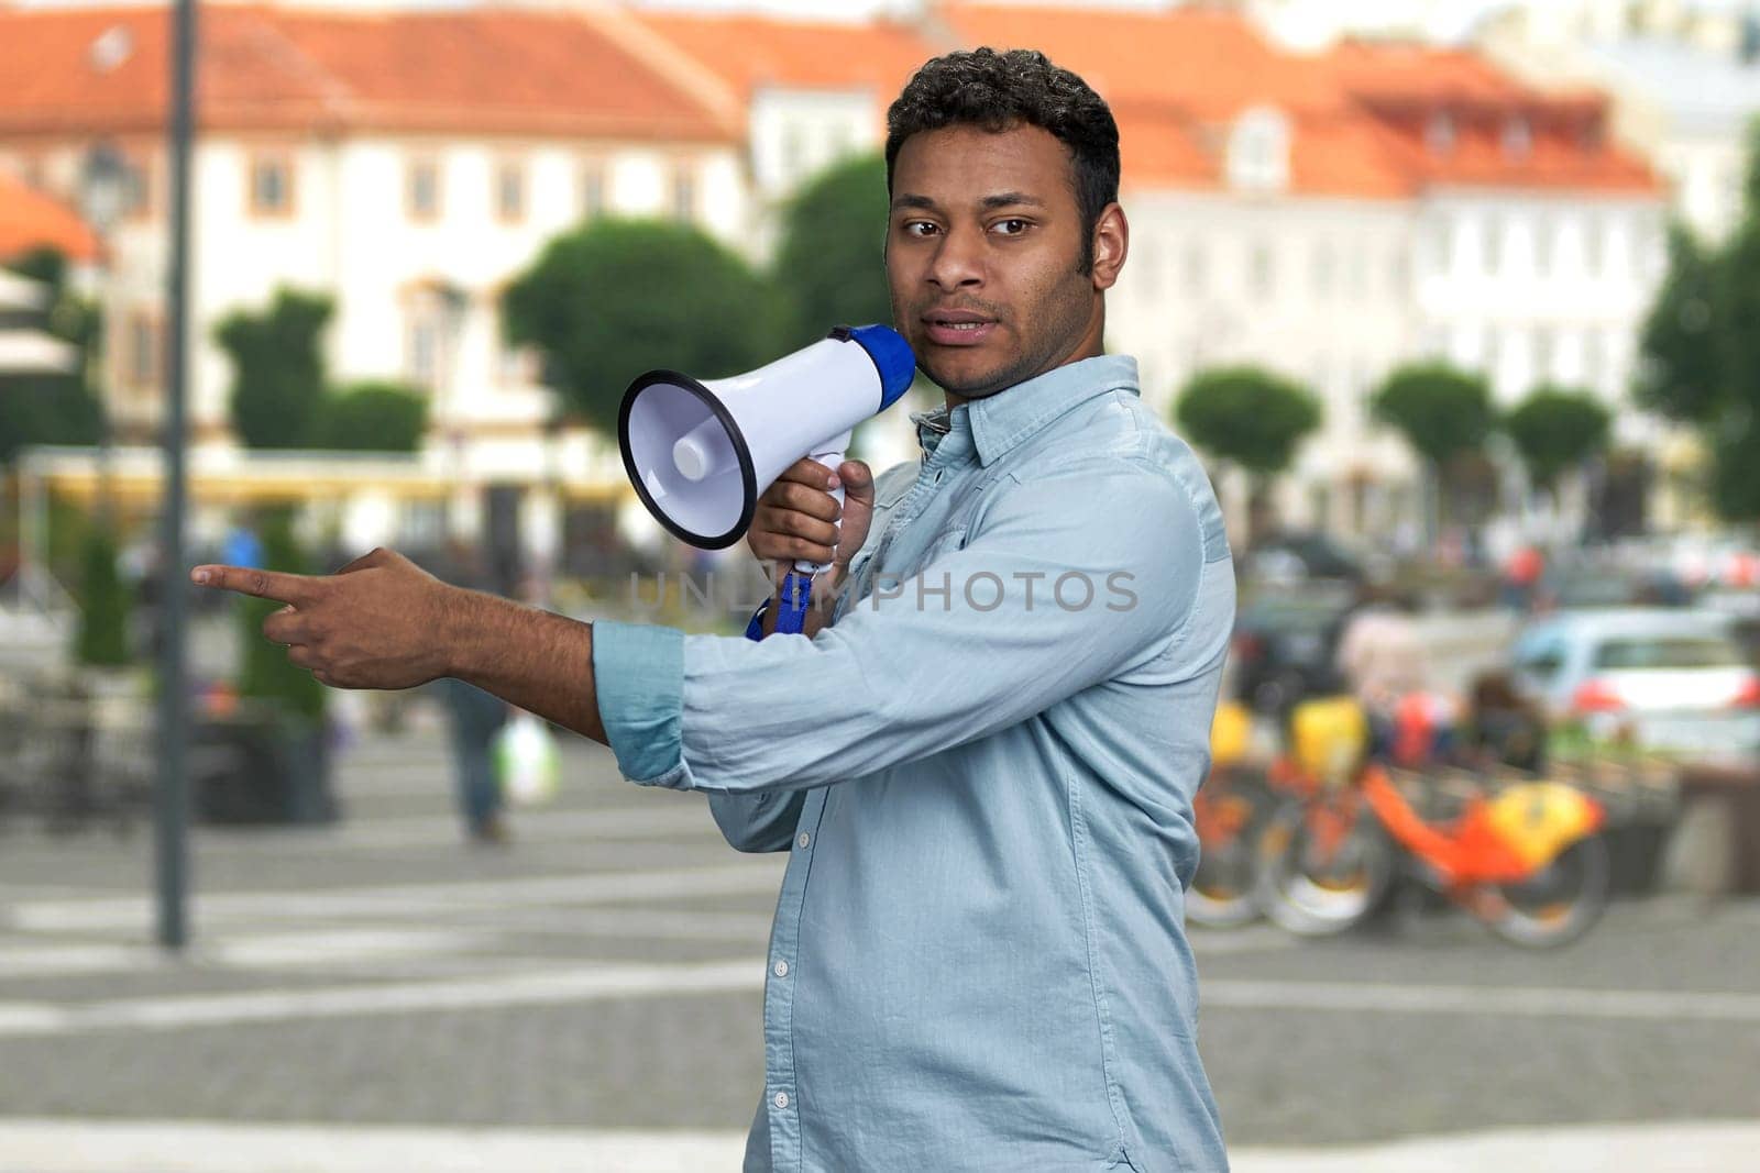
[[[1225,1169],[1183,927],[1234,623],[1209,480],[1128,357],[919,436],[811,640],[595,624],[625,777],[790,853],[744,1168]]]

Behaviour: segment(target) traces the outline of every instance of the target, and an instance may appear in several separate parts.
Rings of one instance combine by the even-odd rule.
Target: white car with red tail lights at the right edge
[[[1707,758],[1760,753],[1760,675],[1734,617],[1711,610],[1568,610],[1528,626],[1515,686],[1551,721]]]

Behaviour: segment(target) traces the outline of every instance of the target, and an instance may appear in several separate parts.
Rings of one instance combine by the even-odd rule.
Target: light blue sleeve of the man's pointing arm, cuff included
[[[1202,566],[1197,506],[1172,475],[1082,457],[1005,482],[961,549],[811,640],[605,624],[600,710],[637,783],[755,793],[861,777],[1146,663],[1181,637]],[[637,681],[607,679],[632,658]]]

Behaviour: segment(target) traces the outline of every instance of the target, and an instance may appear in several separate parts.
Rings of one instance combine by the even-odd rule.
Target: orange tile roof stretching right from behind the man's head
[[[1589,93],[1531,90],[1463,49],[1345,42],[1325,55],[1272,46],[1241,14],[993,7],[947,0],[942,18],[966,44],[1042,49],[1112,106],[1125,183],[1216,186],[1228,128],[1250,107],[1290,121],[1290,190],[1364,199],[1427,185],[1658,192],[1635,155],[1603,142],[1607,104]],[[1447,111],[1456,148],[1431,153],[1429,116]],[[1505,130],[1524,116],[1533,149]]]

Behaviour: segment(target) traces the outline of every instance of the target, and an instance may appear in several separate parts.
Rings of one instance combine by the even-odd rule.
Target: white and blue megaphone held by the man
[[[840,325],[746,375],[695,380],[648,371],[618,410],[623,468],[672,535],[704,550],[729,547],[785,468],[810,455],[836,470],[850,431],[892,406],[915,369],[898,331]]]

